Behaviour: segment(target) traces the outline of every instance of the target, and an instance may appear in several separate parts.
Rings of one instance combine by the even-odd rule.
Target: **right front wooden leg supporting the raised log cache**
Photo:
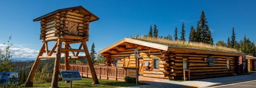
[[[93,84],[99,84],[99,80],[98,80],[97,74],[95,72],[95,69],[93,67],[92,59],[90,57],[89,50],[87,48],[86,42],[82,42],[82,43],[83,43],[83,48],[85,50],[85,55],[86,55],[87,61],[89,63],[90,69],[91,69]]]

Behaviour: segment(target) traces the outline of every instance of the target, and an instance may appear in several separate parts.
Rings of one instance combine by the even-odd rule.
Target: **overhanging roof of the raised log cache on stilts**
[[[33,21],[41,21],[41,19],[44,19],[45,17],[48,17],[48,16],[51,16],[55,13],[58,13],[58,12],[62,12],[62,11],[68,11],[68,10],[74,10],[74,9],[79,9],[79,13],[80,14],[83,14],[83,15],[89,15],[91,14],[92,17],[91,17],[91,20],[90,22],[92,21],[97,21],[99,20],[100,18],[97,17],[96,15],[92,14],[90,11],[86,10],[83,6],[75,6],[75,7],[68,7],[68,8],[62,8],[62,9],[59,9],[59,10],[56,10],[56,11],[53,11],[51,13],[48,13],[48,14],[45,14],[43,16],[40,16],[40,17],[37,17],[36,19],[34,19]]]

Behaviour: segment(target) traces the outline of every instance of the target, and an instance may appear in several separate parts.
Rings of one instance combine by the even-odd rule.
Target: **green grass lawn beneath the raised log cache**
[[[79,81],[72,81],[72,87],[125,87],[125,86],[135,86],[136,83],[126,83],[121,81],[111,81],[99,79],[100,84],[92,84],[92,78],[82,78]],[[70,83],[65,83],[65,81],[58,82],[59,87],[69,87]],[[138,85],[147,85],[146,83],[138,83]],[[51,87],[51,83],[34,84],[34,88],[45,88]]]

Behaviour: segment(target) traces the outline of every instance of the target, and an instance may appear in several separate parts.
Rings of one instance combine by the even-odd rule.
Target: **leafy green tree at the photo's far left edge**
[[[5,48],[0,47],[0,72],[12,72],[14,63],[11,63],[12,60],[9,60],[11,56],[10,48],[12,47],[12,43],[10,43],[11,37],[7,42]],[[5,45],[5,43],[4,43]]]

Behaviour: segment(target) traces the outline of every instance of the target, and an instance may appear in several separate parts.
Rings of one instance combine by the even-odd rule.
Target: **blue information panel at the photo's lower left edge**
[[[18,72],[0,72],[0,85],[19,84]]]

